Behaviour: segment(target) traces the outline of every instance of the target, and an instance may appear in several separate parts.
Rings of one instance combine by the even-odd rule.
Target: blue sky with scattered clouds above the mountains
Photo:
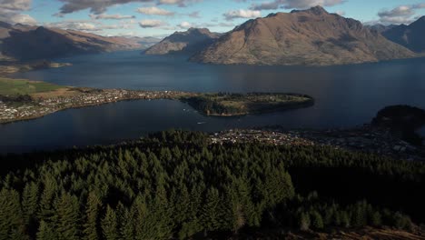
[[[367,25],[410,24],[425,15],[423,0],[0,0],[0,21],[165,36],[190,27],[227,32],[251,18],[315,5]]]

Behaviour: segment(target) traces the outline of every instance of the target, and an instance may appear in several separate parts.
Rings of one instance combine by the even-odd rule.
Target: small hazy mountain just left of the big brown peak
[[[148,48],[146,55],[194,54],[213,44],[220,34],[212,33],[207,28],[190,28],[185,32],[175,32],[160,43]]]

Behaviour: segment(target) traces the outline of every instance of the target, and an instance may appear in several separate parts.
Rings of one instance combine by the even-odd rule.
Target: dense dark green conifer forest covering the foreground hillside
[[[282,238],[367,225],[414,235],[425,220],[424,164],[324,146],[212,145],[170,131],[0,160],[10,169],[0,239]]]

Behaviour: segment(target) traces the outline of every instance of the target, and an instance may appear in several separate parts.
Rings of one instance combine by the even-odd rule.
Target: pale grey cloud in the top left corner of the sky
[[[11,24],[36,25],[31,15],[22,12],[31,9],[32,0],[0,0],[0,21]]]

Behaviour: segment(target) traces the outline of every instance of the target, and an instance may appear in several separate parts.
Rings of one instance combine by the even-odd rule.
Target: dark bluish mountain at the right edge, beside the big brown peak
[[[425,16],[410,25],[398,25],[382,32],[387,39],[417,53],[425,52]]]

